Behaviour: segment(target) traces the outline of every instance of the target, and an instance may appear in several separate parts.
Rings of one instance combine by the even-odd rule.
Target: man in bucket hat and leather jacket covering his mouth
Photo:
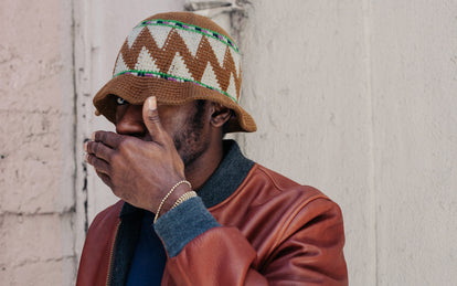
[[[92,223],[77,285],[347,285],[338,205],[223,140],[256,130],[240,89],[237,46],[211,20],[134,28],[94,98],[117,134],[85,144],[121,200]]]

